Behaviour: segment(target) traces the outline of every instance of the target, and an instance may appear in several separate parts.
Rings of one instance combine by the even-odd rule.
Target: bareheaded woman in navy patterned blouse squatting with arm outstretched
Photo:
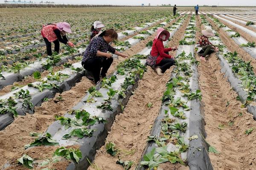
[[[106,77],[108,68],[113,62],[112,54],[107,53],[108,51],[121,57],[128,57],[109,45],[110,42],[117,40],[117,38],[116,31],[108,29],[96,35],[84,51],[82,66],[85,70],[93,72],[95,83],[99,81],[99,76]]]

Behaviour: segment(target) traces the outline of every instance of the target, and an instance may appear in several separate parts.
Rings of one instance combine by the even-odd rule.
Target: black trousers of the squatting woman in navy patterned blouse
[[[82,62],[82,65],[85,70],[93,72],[94,82],[97,83],[99,81],[99,75],[102,77],[106,76],[112,62],[113,58],[104,57],[104,59],[102,59],[102,57],[95,57]],[[102,71],[100,72],[101,68]]]

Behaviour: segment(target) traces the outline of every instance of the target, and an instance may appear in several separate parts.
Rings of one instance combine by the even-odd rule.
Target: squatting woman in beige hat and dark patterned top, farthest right
[[[212,45],[211,42],[209,42],[208,37],[213,37],[215,36],[212,28],[207,27],[206,29],[202,30],[201,37],[199,37],[199,41],[197,44],[201,47],[201,49],[198,49],[197,54],[202,55],[200,57],[201,60],[206,61],[207,55],[210,55],[216,51],[218,51],[218,48]]]

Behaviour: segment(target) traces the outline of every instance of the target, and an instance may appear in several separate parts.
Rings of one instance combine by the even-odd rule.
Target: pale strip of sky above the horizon
[[[3,2],[4,0],[0,0]],[[12,1],[12,0],[10,0]],[[15,0],[17,1],[17,0]],[[23,1],[23,0],[22,0]],[[32,0],[34,2],[40,2],[39,0]],[[47,0],[43,0],[44,2]],[[203,5],[219,5],[219,6],[256,6],[256,0],[48,0],[54,1],[55,3],[65,3],[65,4],[100,4],[100,5],[141,5],[144,3],[151,6],[161,5],[161,4],[176,4],[177,6],[194,6],[198,4]]]

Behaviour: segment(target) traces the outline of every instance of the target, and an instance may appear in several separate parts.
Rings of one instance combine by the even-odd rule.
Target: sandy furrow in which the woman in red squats
[[[189,18],[184,21],[183,26],[175,33],[172,41],[169,42],[170,46],[178,45],[188,23]],[[123,160],[134,161],[132,170],[136,168],[136,164],[139,163],[145,149],[146,139],[161,107],[160,99],[166,89],[165,85],[169,81],[170,73],[171,70],[169,69],[162,77],[159,77],[148,67],[148,71],[143,76],[143,79],[140,80],[135,94],[129,99],[123,113],[116,116],[116,120],[106,139],[106,143],[113,142],[120,149],[136,150],[133,155],[122,155]],[[153,103],[153,107],[150,109],[146,106],[148,102]],[[102,146],[97,151],[94,165],[97,165],[101,170],[123,170],[122,166],[116,164],[117,160],[117,157],[106,153],[105,146]],[[180,167],[170,163],[164,166],[168,168]],[[90,166],[88,170],[93,170],[93,167]]]

